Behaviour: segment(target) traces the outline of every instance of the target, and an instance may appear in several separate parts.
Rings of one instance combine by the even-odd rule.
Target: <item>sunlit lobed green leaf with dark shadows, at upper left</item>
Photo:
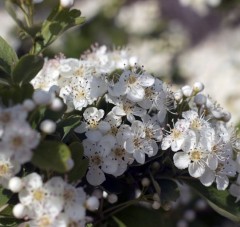
[[[59,7],[59,5],[53,9],[49,17],[43,22],[41,31],[37,34],[35,52],[41,52],[69,28],[81,25],[85,19],[80,15],[79,10],[70,10]]]

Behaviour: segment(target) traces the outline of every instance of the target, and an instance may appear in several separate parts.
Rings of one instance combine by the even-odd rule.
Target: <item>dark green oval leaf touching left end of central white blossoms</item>
[[[40,56],[23,56],[13,70],[12,78],[17,84],[30,82],[42,69],[44,60]]]

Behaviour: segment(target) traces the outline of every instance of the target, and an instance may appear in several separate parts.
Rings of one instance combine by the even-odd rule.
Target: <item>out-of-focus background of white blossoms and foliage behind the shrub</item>
[[[44,19],[54,4],[55,0],[37,4],[36,21]],[[240,0],[75,0],[75,8],[86,23],[64,34],[46,56],[61,52],[79,58],[94,44],[126,48],[174,89],[204,83],[205,93],[231,112],[233,124],[239,125]],[[0,1],[0,20],[0,35],[19,56],[27,53],[29,41],[19,38],[4,1]],[[166,226],[238,226],[185,187],[181,193],[177,203],[169,204]]]

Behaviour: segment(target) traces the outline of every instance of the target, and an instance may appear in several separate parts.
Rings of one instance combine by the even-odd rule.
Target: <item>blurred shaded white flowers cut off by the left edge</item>
[[[8,187],[21,165],[30,161],[40,135],[27,122],[28,102],[0,107],[0,185]]]

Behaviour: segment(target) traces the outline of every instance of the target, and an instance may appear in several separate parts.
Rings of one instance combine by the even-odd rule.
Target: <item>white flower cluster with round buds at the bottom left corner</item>
[[[86,209],[98,209],[95,196],[87,197],[82,187],[68,184],[61,177],[52,177],[43,183],[33,172],[25,177],[14,177],[9,182],[12,191],[18,192],[20,203],[13,214],[27,220],[29,226],[83,226]]]

